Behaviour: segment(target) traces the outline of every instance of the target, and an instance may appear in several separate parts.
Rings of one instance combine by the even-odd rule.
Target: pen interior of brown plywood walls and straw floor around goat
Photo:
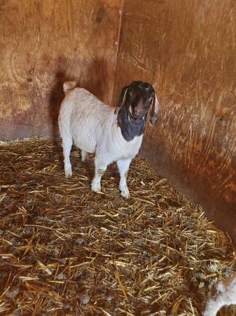
[[[0,1],[2,315],[202,315],[233,275],[235,14],[233,0]],[[64,178],[68,79],[114,107],[153,84],[130,199],[114,165],[91,192],[93,156],[75,147]]]

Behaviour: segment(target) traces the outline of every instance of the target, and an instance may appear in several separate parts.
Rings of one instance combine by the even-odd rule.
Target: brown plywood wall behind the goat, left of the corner
[[[121,0],[0,1],[0,140],[57,133],[62,82],[111,103]]]

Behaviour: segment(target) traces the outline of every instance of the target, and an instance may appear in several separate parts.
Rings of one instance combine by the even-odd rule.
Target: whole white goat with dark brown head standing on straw
[[[117,162],[121,195],[129,198],[127,172],[130,162],[139,152],[146,118],[151,126],[158,118],[159,103],[153,86],[143,81],[133,81],[123,87],[115,111],[85,88],[76,88],[75,81],[65,82],[63,89],[65,97],[58,124],[66,178],[72,176],[69,154],[74,142],[81,149],[83,162],[88,152],[95,153],[92,191],[101,192],[101,178],[106,167]]]

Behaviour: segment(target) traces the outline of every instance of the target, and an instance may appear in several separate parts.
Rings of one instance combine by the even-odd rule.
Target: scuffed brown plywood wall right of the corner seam
[[[141,154],[236,240],[236,2],[125,0],[113,103],[153,83]]]

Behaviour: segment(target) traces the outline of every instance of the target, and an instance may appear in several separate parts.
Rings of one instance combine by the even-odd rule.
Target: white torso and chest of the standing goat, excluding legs
[[[111,162],[133,158],[139,152],[142,136],[127,142],[117,125],[114,109],[84,88],[74,88],[62,101],[60,133],[71,138],[85,152],[99,152]]]

